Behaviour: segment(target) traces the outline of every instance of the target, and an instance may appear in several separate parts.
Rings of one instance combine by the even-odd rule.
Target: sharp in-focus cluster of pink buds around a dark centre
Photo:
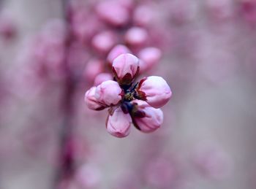
[[[114,80],[103,81],[86,92],[89,109],[108,108],[106,128],[113,136],[129,135],[132,123],[144,133],[162,125],[163,113],[159,108],[169,101],[170,87],[158,76],[144,77],[135,83],[139,70],[140,61],[135,55],[118,55],[112,63]]]

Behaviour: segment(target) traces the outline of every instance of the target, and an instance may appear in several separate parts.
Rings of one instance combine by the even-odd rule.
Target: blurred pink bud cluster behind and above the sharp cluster
[[[162,45],[156,44],[154,37],[159,38],[152,24],[159,17],[154,12],[154,4],[133,0],[83,4],[73,0],[69,9],[72,34],[91,54],[83,73],[87,82],[97,83],[98,74],[111,73],[113,60],[121,54],[137,55],[140,73],[148,72],[159,63]]]

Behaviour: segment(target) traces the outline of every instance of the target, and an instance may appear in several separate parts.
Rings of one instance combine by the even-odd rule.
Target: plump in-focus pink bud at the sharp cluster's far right
[[[136,90],[139,98],[154,108],[164,106],[172,95],[167,82],[158,76],[145,77],[140,80]]]

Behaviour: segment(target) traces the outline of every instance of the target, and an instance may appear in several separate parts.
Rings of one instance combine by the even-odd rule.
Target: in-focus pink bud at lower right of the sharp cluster
[[[150,133],[162,125],[164,115],[161,109],[150,107],[146,101],[135,100],[133,104],[138,105],[138,110],[143,112],[143,117],[134,118],[134,123],[140,128],[140,131]]]

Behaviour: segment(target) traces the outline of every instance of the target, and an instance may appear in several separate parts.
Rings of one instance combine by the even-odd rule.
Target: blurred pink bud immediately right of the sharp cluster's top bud
[[[140,72],[146,72],[156,65],[162,56],[161,50],[156,47],[147,47],[140,50],[138,57],[140,58]]]

